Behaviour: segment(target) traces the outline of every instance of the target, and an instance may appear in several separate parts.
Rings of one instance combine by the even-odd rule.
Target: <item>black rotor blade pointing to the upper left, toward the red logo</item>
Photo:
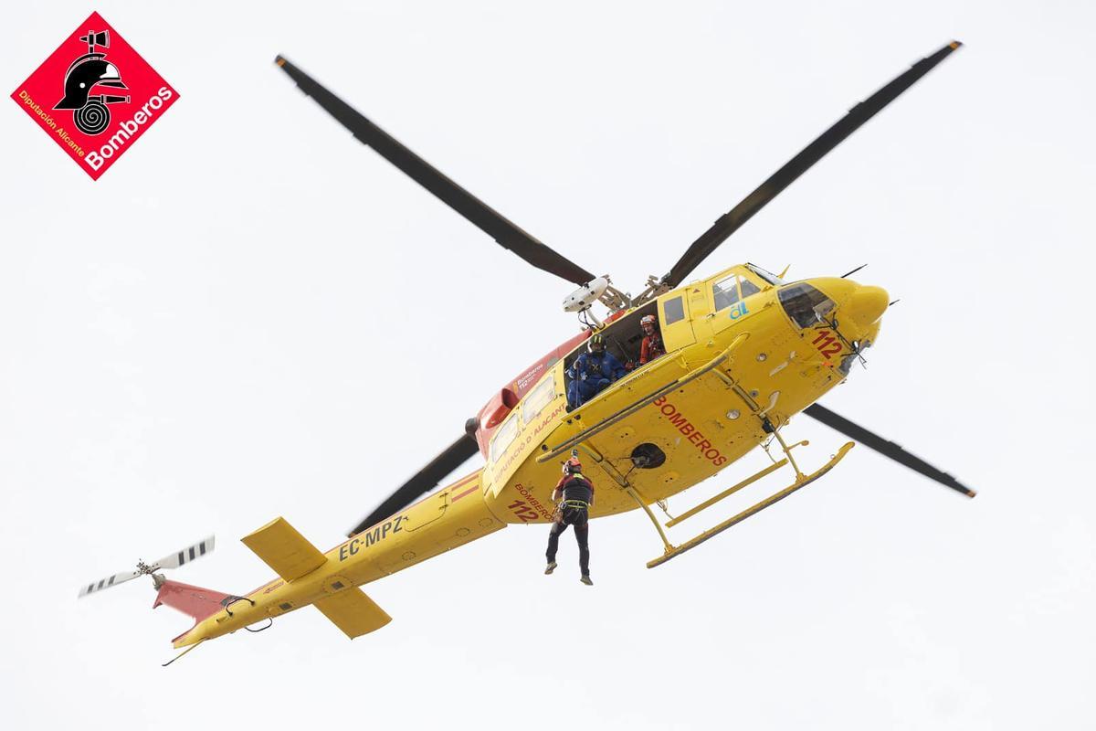
[[[372,147],[503,248],[513,251],[537,269],[550,272],[568,282],[583,285],[594,278],[593,274],[523,231],[502,214],[446,178],[439,170],[403,147],[395,137],[369,122],[362,113],[285,58],[278,56],[274,62],[297,82],[301,91],[346,127],[359,142]]]

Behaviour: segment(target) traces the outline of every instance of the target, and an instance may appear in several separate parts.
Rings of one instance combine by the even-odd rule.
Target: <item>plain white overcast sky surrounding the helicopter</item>
[[[4,93],[93,9],[181,99],[96,183],[0,105],[5,728],[1096,723],[1091,3],[9,3]],[[697,275],[868,263],[902,301],[824,402],[977,500],[858,448],[655,570],[639,513],[592,525],[592,590],[570,535],[546,578],[547,528],[511,527],[367,586],[393,617],[374,635],[306,609],[165,670],[190,620],[146,582],[76,601],[214,532],[173,578],[253,589],[241,536],[284,515],[334,545],[575,332],[567,283],[355,142],[275,54],[637,292],[952,37]],[[815,465],[844,441],[788,433]]]

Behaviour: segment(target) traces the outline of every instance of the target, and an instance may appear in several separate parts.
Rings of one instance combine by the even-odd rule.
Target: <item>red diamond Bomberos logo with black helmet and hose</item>
[[[179,92],[92,13],[11,98],[99,180]]]

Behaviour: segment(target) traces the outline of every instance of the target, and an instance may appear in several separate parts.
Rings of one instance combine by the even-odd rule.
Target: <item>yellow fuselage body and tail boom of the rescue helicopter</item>
[[[713,287],[729,275],[754,283],[760,292],[720,306]],[[792,321],[777,287],[745,266],[660,296],[665,355],[573,411],[567,409],[566,362],[555,363],[494,430],[481,470],[327,551],[327,560],[315,571],[261,586],[247,597],[253,605],[232,604],[231,615],[219,612],[203,620],[178,638],[176,647],[308,606],[342,587],[369,583],[510,523],[551,521],[551,493],[567,455],[546,455],[584,432],[591,435],[578,447],[583,471],[596,489],[591,517],[638,507],[625,488],[651,504],[706,480],[769,436],[756,415],[758,409],[770,425],[784,425],[844,380],[846,358],[852,357],[849,343],[876,340],[886,292],[840,278],[806,284],[834,305],[808,327]],[[841,338],[823,320],[836,323]],[[726,361],[695,375],[732,343]],[[682,387],[665,391],[667,385],[682,380],[686,381]],[[643,403],[660,390],[662,396]],[[629,411],[637,403],[642,406]],[[613,421],[621,412],[627,415]],[[592,429],[607,420],[609,426]],[[664,461],[635,468],[632,455],[639,445],[654,445],[665,455]]]

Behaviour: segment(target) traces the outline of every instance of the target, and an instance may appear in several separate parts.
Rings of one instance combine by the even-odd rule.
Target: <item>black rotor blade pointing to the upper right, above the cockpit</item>
[[[837,147],[842,140],[856,132],[860,125],[894,101],[899,94],[913,85],[917,79],[928,73],[934,66],[943,61],[948,54],[961,45],[958,41],[952,41],[928,58],[923,58],[914,64],[909,71],[849,110],[848,114],[822,133],[818,139],[804,147],[799,155],[788,160],[783,168],[757,186],[757,190],[743,198],[731,210],[723,214],[711,228],[689,245],[685,254],[670,270],[670,273],[662,277],[662,282],[671,287],[676,287],[681,284],[700,262],[708,258],[708,254],[726,241],[731,233],[734,233],[740,226],[750,220],[755,213],[764,208],[769,201],[779,195],[780,191],[788,187],[797,178],[807,172],[811,165],[825,157],[830,150]]]

